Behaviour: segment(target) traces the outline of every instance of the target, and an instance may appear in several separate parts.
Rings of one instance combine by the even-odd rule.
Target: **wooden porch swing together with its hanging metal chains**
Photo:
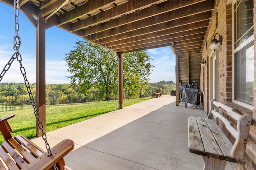
[[[7,122],[8,119],[14,117],[14,115],[8,115],[0,119],[0,132],[2,133],[5,142],[0,146],[0,169],[2,170],[70,170],[67,166],[65,166],[65,162],[63,157],[66,156],[71,150],[74,149],[74,142],[70,139],[63,140],[58,143],[52,149],[48,144],[46,139],[46,133],[43,130],[42,122],[40,121],[39,113],[36,108],[36,103],[34,97],[32,95],[30,84],[26,78],[25,68],[22,66],[22,58],[18,51],[21,41],[18,35],[19,31],[19,23],[18,23],[18,15],[19,15],[19,0],[15,0],[14,8],[15,8],[15,36],[14,36],[14,50],[16,51],[8,63],[4,66],[0,74],[0,82],[4,76],[4,74],[10,68],[12,62],[17,59],[20,64],[20,71],[24,77],[24,83],[28,90],[28,94],[30,96],[30,102],[34,108],[34,115],[38,120],[38,127],[42,131],[42,138],[45,141],[45,146],[47,152],[40,149],[34,143],[32,143],[29,139],[22,135],[17,135],[12,137],[11,132],[12,129]]]

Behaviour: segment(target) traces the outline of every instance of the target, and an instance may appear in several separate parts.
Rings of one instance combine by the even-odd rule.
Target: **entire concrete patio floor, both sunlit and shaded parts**
[[[47,133],[50,146],[71,139],[64,157],[73,170],[200,170],[202,156],[188,151],[188,116],[205,117],[164,95]],[[32,139],[45,149],[42,138]],[[227,163],[226,170],[232,169]]]

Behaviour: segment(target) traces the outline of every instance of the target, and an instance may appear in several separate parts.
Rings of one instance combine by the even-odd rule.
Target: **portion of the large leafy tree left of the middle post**
[[[105,92],[110,100],[111,84],[117,83],[117,58],[113,51],[91,43],[77,41],[74,50],[66,54],[65,60],[72,84],[78,82],[80,90],[88,95],[90,88],[98,83],[98,90]],[[113,79],[114,78],[114,79]]]

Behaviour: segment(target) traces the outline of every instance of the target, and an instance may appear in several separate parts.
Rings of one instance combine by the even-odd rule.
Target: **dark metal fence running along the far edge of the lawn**
[[[162,94],[170,94],[170,90],[173,88],[158,88]],[[134,92],[134,90],[124,89],[124,99],[131,98],[144,98],[152,96],[153,90],[149,89],[139,89]],[[36,98],[36,96],[34,96]],[[118,100],[118,98],[111,98],[110,100]],[[46,94],[46,106],[56,106],[56,105],[66,105],[66,104],[79,104],[88,102],[100,102],[99,98],[94,97],[94,95],[85,96],[81,93],[49,93]],[[12,111],[20,109],[32,108],[29,95],[18,95],[18,96],[0,96],[0,112],[2,111]]]

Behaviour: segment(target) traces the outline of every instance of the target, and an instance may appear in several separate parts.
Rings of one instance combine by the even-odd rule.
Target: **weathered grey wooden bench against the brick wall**
[[[219,108],[225,110],[236,125],[219,113]],[[234,144],[218,126],[219,120],[235,138]],[[207,118],[188,117],[188,149],[203,156],[205,170],[224,170],[226,161],[245,164],[244,152],[251,121],[250,115],[240,115],[232,107],[213,99]]]

